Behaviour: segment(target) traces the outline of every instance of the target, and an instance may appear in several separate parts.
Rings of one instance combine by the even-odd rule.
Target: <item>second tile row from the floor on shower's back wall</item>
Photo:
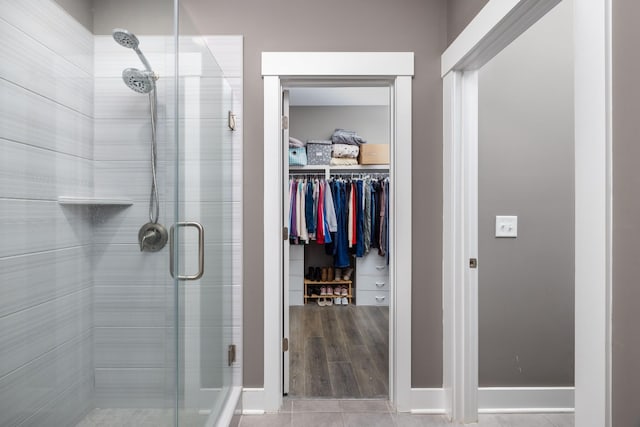
[[[163,368],[175,361],[171,328],[97,327],[96,368]]]

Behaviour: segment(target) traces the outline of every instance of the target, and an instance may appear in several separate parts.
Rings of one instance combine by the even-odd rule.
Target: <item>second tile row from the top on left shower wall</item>
[[[86,116],[93,115],[93,76],[0,19],[0,78]]]

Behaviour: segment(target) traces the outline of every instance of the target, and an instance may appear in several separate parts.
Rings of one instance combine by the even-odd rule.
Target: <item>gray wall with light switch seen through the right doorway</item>
[[[573,385],[572,13],[563,1],[479,74],[482,387]],[[516,239],[495,237],[496,215],[518,216]]]

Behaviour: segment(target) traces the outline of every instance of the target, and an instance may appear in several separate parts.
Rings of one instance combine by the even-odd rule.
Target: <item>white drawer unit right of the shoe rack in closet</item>
[[[389,266],[372,250],[356,261],[356,304],[389,305]]]

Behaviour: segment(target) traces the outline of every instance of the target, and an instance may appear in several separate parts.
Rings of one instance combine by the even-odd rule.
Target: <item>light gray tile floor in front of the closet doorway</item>
[[[441,415],[396,414],[382,400],[287,400],[278,414],[243,415],[240,427],[457,427]],[[573,414],[483,414],[478,427],[573,427]]]

